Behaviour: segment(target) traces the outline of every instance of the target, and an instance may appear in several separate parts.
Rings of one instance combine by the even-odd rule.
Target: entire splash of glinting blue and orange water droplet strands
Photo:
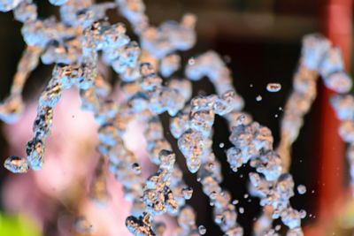
[[[55,106],[65,89],[75,87],[80,91],[82,109],[92,112],[99,124],[100,158],[90,186],[90,198],[99,203],[109,200],[105,184],[108,169],[122,183],[126,199],[133,202],[132,216],[126,221],[130,232],[162,235],[165,225],[155,222],[154,217],[168,213],[178,215],[176,235],[203,235],[206,228],[196,226],[195,212],[186,204],[193,189],[184,183],[182,171],[174,164],[173,149],[158,118],[167,112],[173,117],[170,131],[178,139],[188,169],[197,173],[204,194],[210,199],[215,223],[226,235],[242,235],[232,197],[220,187],[220,164],[212,152],[212,126],[215,115],[219,115],[227,119],[231,130],[230,141],[234,147],[227,150],[231,169],[237,171],[242,164],[250,163],[257,171],[250,173],[251,193],[261,199],[265,209],[271,208],[268,211],[271,217],[281,217],[283,224],[289,226],[289,235],[303,235],[300,223],[304,212],[292,209],[289,204],[289,198],[294,195],[294,182],[282,167],[281,156],[273,151],[272,133],[242,113],[243,100],[236,94],[231,72],[221,57],[208,51],[190,58],[185,68],[189,80],[174,78],[164,84],[158,75],[159,72],[162,77],[170,78],[180,70],[181,57],[176,51],[190,49],[196,42],[195,16],[186,14],[181,22],[167,21],[153,27],[141,0],[104,4],[93,4],[90,0],[50,0],[50,3],[60,6],[60,21],[38,19],[36,5],[31,0],[0,0],[0,11],[13,11],[15,19],[23,23],[22,34],[27,43],[11,95],[0,105],[2,120],[13,122],[19,118],[23,108],[22,89],[39,60],[45,65],[55,64],[52,78],[39,99],[33,139],[27,143],[27,158],[10,156],[4,163],[8,170],[19,173],[41,169]],[[130,40],[124,25],[110,24],[106,19],[105,11],[116,6],[139,36],[142,48]],[[112,99],[112,87],[98,65],[112,66],[119,75],[123,95],[119,103]],[[282,122],[282,137],[286,136],[287,147],[296,139],[302,117],[316,95],[318,73],[327,87],[337,92],[348,92],[351,86],[343,72],[339,50],[318,35],[304,38],[300,65]],[[203,77],[212,81],[217,95],[191,99],[190,80]],[[271,92],[281,89],[279,84],[268,87]],[[353,107],[354,99],[348,96],[337,97],[333,103],[346,122],[341,129],[342,136],[351,143],[354,111],[346,108]],[[150,161],[158,165],[158,171],[146,181],[142,179],[142,168],[134,152],[125,144],[127,126],[133,120],[145,124],[142,133]],[[276,235],[276,230],[270,228],[272,220],[267,222],[260,230],[256,227],[257,235]],[[92,231],[90,224],[79,225],[89,225],[86,229],[81,226],[80,231]]]

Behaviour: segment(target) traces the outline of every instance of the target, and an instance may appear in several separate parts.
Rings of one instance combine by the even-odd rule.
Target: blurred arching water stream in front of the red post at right
[[[316,98],[316,83],[321,77],[324,85],[339,95],[331,98],[337,117],[342,121],[339,133],[346,142],[352,135],[353,98],[349,95],[352,88],[352,80],[344,70],[342,54],[339,48],[331,44],[320,34],[306,35],[303,40],[302,57],[293,80],[293,92],[289,96],[281,121],[281,144],[279,152],[284,159],[283,167],[289,169],[289,148],[296,140],[304,115],[311,109]],[[353,169],[352,145],[348,149],[350,168]],[[350,157],[351,156],[351,157]],[[351,171],[352,179],[354,171]]]

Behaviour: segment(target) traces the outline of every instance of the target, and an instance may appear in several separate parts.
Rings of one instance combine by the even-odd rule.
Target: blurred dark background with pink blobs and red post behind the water
[[[58,16],[58,9],[48,1],[36,2],[42,18],[53,14]],[[353,42],[352,0],[144,2],[150,22],[156,26],[166,19],[179,20],[186,12],[196,14],[196,46],[181,53],[183,62],[209,49],[219,52],[233,72],[235,88],[245,99],[245,110],[261,125],[272,130],[275,145],[279,141],[281,108],[291,91],[292,76],[304,34],[319,32],[327,35],[341,47],[348,71],[354,68],[350,60]],[[127,24],[116,11],[109,11],[109,17],[112,22]],[[13,20],[12,13],[0,14],[0,26],[0,99],[3,100],[9,94],[12,76],[25,43],[20,34],[21,24]],[[127,27],[130,29],[128,24]],[[19,123],[11,126],[0,124],[2,163],[10,154],[24,154],[35,118],[36,100],[50,79],[50,72],[50,66],[40,65],[27,81],[24,91],[27,109]],[[112,78],[112,83],[115,81],[116,78]],[[267,93],[266,85],[269,82],[281,83],[281,91]],[[294,143],[290,169],[296,186],[306,186],[307,192],[296,194],[291,203],[296,209],[305,209],[307,212],[303,220],[305,235],[353,235],[354,202],[350,200],[345,147],[337,135],[338,121],[327,103],[330,92],[321,84],[318,87],[318,97],[310,113],[305,116],[304,127]],[[208,80],[194,84],[194,94],[201,92],[213,93]],[[260,102],[256,101],[258,95],[263,98]],[[56,111],[43,171],[14,175],[0,168],[2,236],[75,235],[69,222],[77,208],[75,202],[85,193],[87,179],[92,175],[97,160],[96,125],[90,114],[79,110],[80,102],[75,93],[68,91],[64,96],[66,98]],[[167,116],[163,115],[162,118],[166,126]],[[327,138],[324,138],[325,135]],[[176,147],[171,134],[166,133],[166,136]],[[225,150],[230,147],[228,136],[227,124],[217,119],[213,149],[222,163],[225,179],[222,187],[239,200],[237,207],[243,208],[244,213],[239,214],[238,222],[245,229],[245,235],[251,235],[254,219],[260,213],[258,199],[244,197],[250,169],[244,167],[235,173],[227,164]],[[223,148],[219,147],[221,142],[225,144]],[[213,223],[212,208],[196,182],[196,176],[187,171],[183,157],[180,155],[178,158],[186,182],[195,189],[189,202],[196,209],[197,224],[205,225],[206,235],[222,235]],[[113,232],[99,235],[129,235],[124,228],[129,206],[122,199],[119,183],[114,179],[108,181],[110,192],[114,195],[112,204],[116,209],[110,209],[112,212],[107,213],[87,202],[82,204],[88,204],[90,214],[104,216],[101,219],[105,221],[104,224],[114,229]],[[98,234],[93,232],[92,235]]]

